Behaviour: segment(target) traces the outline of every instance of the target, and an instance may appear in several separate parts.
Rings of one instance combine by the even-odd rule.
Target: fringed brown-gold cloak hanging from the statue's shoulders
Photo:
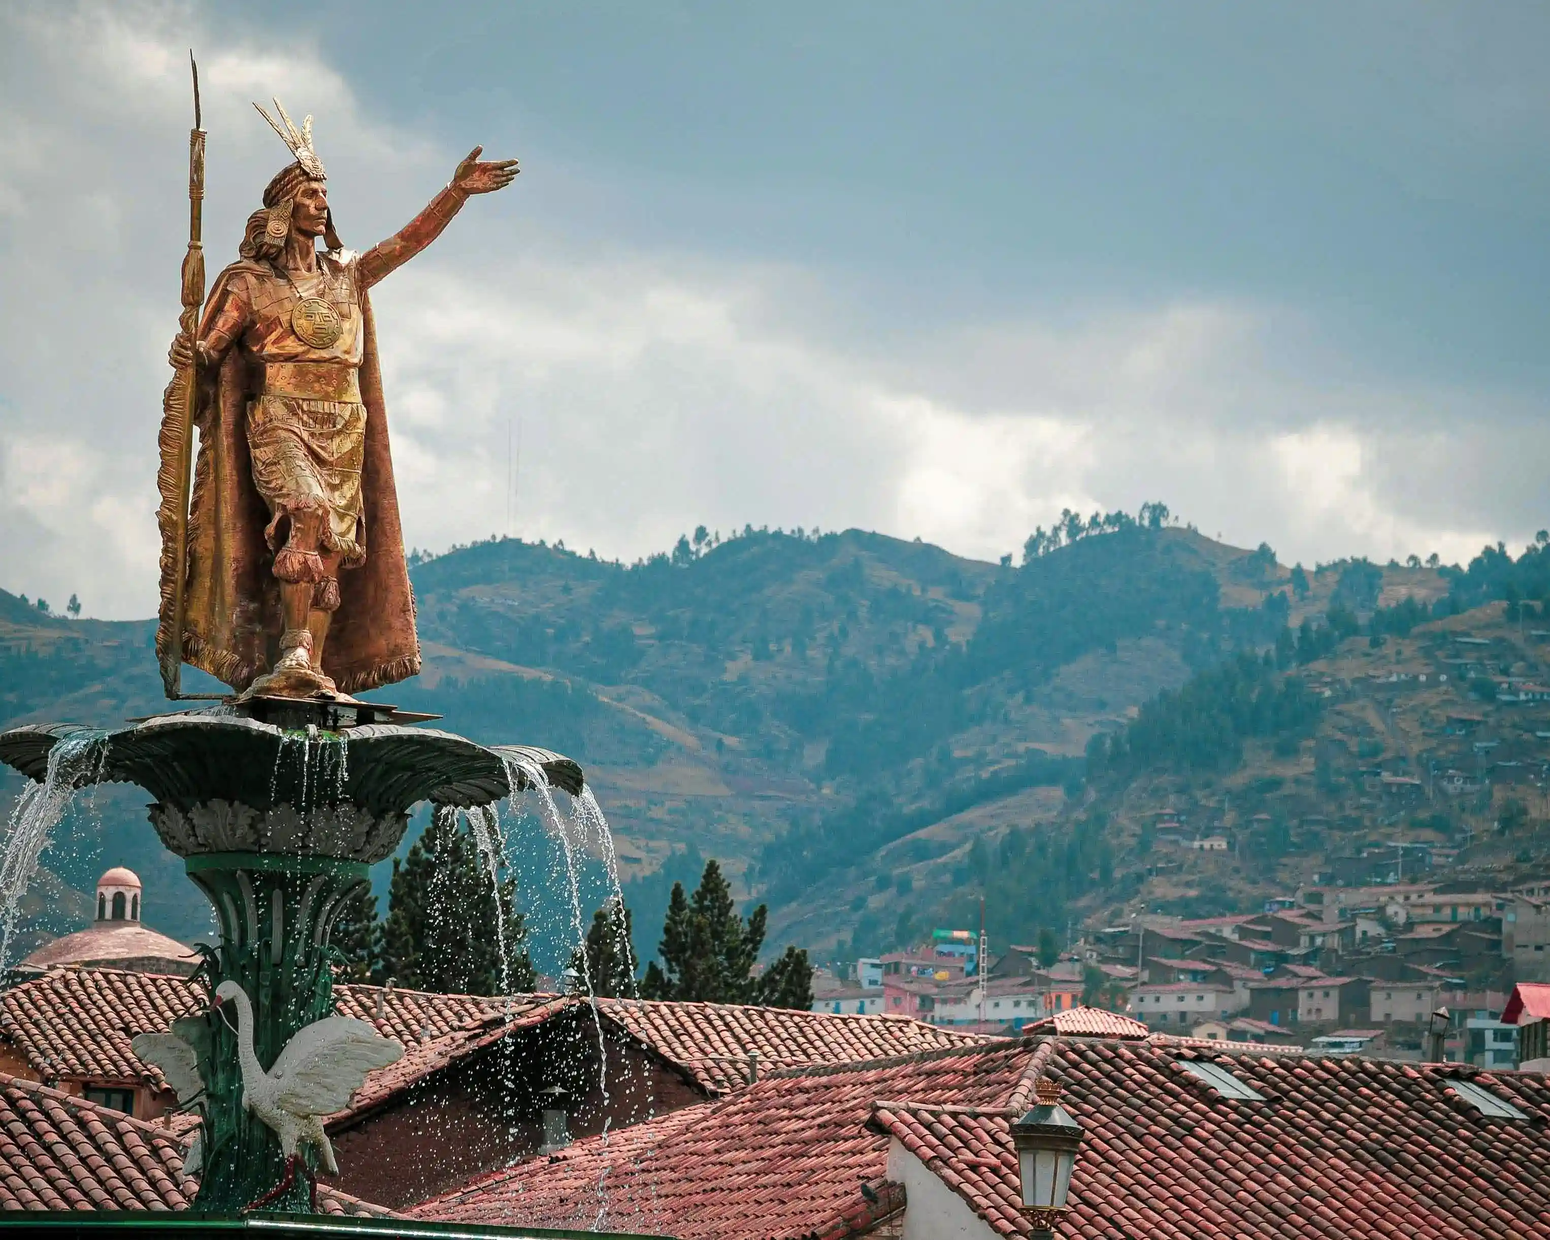
[[[225,281],[237,271],[271,274],[267,267],[236,262],[215,279],[205,302],[208,318]],[[414,594],[403,556],[398,493],[394,487],[377,363],[377,329],[370,301],[360,293],[366,333],[361,363],[361,403],[366,406],[366,459],[361,502],[366,525],[366,564],[339,574],[339,609],[333,612],[322,651],[322,671],[343,693],[391,685],[420,671],[420,643],[414,628]],[[205,322],[200,324],[203,335]],[[256,384],[250,361],[237,346],[226,352],[215,381],[202,383],[195,409],[198,459],[188,522],[188,589],[183,622],[183,659],[234,690],[246,690],[279,656],[281,598],[274,553],[264,539],[268,508],[253,484],[248,459],[246,408]],[[158,651],[166,657],[170,632],[170,535],[163,530],[163,632]]]

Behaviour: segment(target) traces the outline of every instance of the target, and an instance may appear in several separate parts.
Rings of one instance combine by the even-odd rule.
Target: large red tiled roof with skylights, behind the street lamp
[[[1206,1059],[1263,1100],[1181,1065]],[[1008,1125],[1040,1074],[1083,1125],[1063,1237],[1545,1237],[1550,1088],[1539,1073],[1266,1054],[1234,1043],[1034,1038],[809,1068],[578,1141],[425,1203],[420,1218],[634,1226],[684,1240],[852,1234],[894,1136],[1000,1235],[1026,1235]],[[1483,1114],[1469,1079],[1528,1119]]]

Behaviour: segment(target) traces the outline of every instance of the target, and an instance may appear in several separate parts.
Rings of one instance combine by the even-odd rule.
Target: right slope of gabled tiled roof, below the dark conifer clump
[[[758,1071],[808,1063],[854,1063],[983,1043],[978,1034],[939,1029],[910,1017],[798,1012],[732,1003],[600,1000],[598,1008],[663,1057],[693,1073],[708,1093],[741,1088],[750,1056]]]

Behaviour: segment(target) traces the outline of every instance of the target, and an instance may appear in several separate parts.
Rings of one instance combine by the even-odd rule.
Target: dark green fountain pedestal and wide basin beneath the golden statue
[[[234,981],[253,1006],[253,1043],[270,1071],[285,1045],[333,1012],[335,949],[329,933],[369,868],[392,856],[411,809],[484,806],[529,786],[542,770],[580,794],[581,769],[541,749],[485,747],[462,736],[394,722],[347,724],[327,704],[296,702],[281,722],[259,707],[226,704],[163,715],[110,733],[31,725],[0,733],[0,761],[50,781],[39,801],[71,787],[129,781],[155,797],[150,822],[215,910],[220,942],[202,946],[195,976],[209,992]],[[361,711],[352,718],[370,711]],[[70,761],[60,755],[68,750]],[[53,756],[53,761],[51,761]],[[34,857],[36,860],[36,857]],[[195,1052],[203,1094],[195,1206],[236,1214],[285,1175],[276,1133],[243,1107],[237,1035],[212,1009],[174,1029]],[[308,1167],[316,1153],[302,1147]],[[267,1209],[312,1211],[296,1176]]]

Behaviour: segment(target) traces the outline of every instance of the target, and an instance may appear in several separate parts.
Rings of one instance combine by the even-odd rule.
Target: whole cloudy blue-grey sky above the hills
[[[1282,560],[1550,524],[1542,5],[0,5],[0,587],[155,601],[186,240],[316,116],[411,544],[862,525],[997,556],[1162,499]],[[508,477],[515,473],[515,485]]]

